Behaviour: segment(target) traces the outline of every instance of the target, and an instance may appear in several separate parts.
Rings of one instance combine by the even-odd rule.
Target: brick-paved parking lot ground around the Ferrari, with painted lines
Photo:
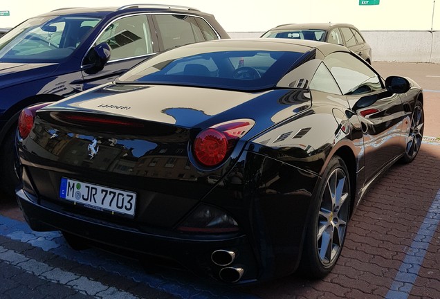
[[[0,194],[0,298],[440,298],[440,64],[373,65],[423,87],[426,137],[413,163],[394,165],[369,189],[326,278],[227,288],[104,251],[73,251],[57,232],[30,230],[15,199]]]

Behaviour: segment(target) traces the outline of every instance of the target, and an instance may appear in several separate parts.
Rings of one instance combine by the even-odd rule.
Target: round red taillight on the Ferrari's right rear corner
[[[207,167],[219,165],[232,152],[239,138],[253,125],[254,120],[240,119],[204,129],[194,140],[192,150],[196,161]]]

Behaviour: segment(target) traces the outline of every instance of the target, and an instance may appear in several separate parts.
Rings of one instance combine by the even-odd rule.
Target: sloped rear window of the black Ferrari
[[[178,84],[235,90],[275,87],[303,53],[222,46],[176,48],[156,55],[120,82]]]

